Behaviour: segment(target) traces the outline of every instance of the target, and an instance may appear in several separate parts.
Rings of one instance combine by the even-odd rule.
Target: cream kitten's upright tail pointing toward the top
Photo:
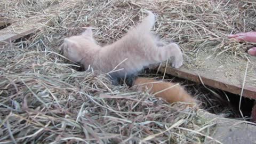
[[[145,12],[148,14],[148,17],[142,20],[142,22],[137,26],[137,29],[142,31],[150,31],[155,25],[155,14],[147,10]]]

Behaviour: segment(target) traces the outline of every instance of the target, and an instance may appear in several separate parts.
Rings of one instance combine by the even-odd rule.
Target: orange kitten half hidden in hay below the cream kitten
[[[163,98],[169,103],[192,103],[190,106],[194,106],[196,103],[196,100],[191,97],[191,95],[189,95],[179,84],[139,77],[135,79],[133,87],[136,87],[138,90],[142,91],[148,89],[151,94],[155,94],[156,97]]]

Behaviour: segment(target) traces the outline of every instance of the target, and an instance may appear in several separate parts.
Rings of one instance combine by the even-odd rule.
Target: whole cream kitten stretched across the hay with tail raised
[[[63,54],[68,59],[81,63],[86,69],[109,73],[115,77],[129,76],[151,64],[174,58],[172,66],[179,68],[183,58],[179,46],[175,43],[163,44],[150,33],[155,23],[155,15],[150,12],[137,27],[132,28],[113,44],[101,47],[96,44],[92,30],[87,29],[81,35],[64,39]],[[113,72],[113,70],[118,70]],[[121,70],[120,70],[121,69]]]

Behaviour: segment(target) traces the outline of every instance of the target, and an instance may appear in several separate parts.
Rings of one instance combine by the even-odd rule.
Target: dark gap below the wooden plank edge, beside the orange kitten
[[[159,79],[163,78],[162,73],[158,72],[158,74],[156,74],[156,70],[145,69],[141,76],[157,77]],[[191,82],[187,79],[174,77],[172,75],[165,74],[164,79],[166,81],[180,83],[192,96],[194,96],[197,100],[202,101],[201,108],[209,111],[210,113],[217,115],[221,114],[228,118],[243,119],[239,112],[240,95],[218,90],[211,86],[206,86],[208,88],[206,89],[202,84]],[[209,89],[218,95],[214,94]],[[250,121],[253,103],[253,99],[242,97],[241,111],[247,121]]]

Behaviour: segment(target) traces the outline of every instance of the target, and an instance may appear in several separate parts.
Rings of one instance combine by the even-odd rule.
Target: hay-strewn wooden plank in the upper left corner
[[[0,42],[10,42],[15,39],[24,37],[29,34],[33,34],[38,30],[41,30],[44,25],[50,26],[53,22],[49,19],[50,17],[45,17],[45,15],[49,16],[54,13],[56,10],[55,7],[59,5],[52,5],[45,9],[44,14],[37,14],[27,19],[19,19],[12,22],[11,26],[8,26],[2,30],[0,30]]]

